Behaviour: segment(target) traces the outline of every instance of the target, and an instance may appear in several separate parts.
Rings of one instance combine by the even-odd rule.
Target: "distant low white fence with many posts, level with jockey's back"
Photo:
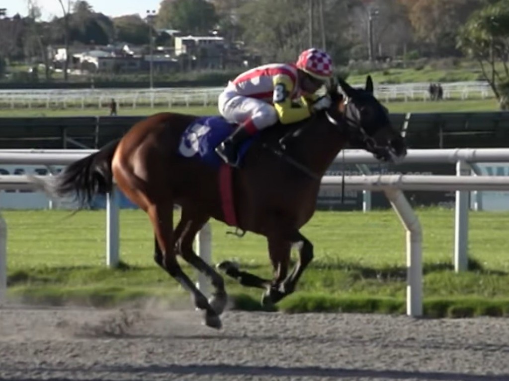
[[[375,95],[385,101],[428,101],[429,83],[375,86]],[[444,83],[444,99],[486,99],[493,91],[486,82]],[[119,108],[164,106],[215,106],[222,87],[168,87],[154,89],[46,89],[0,90],[2,108],[102,108],[115,99]]]

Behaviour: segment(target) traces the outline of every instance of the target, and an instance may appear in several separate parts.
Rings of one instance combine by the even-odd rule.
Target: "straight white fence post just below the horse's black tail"
[[[119,214],[120,194],[117,185],[106,195],[106,265],[117,267],[119,264]]]

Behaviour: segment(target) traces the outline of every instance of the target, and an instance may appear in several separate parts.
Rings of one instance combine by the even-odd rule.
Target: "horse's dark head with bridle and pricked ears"
[[[394,162],[403,158],[407,153],[405,141],[393,128],[387,109],[373,96],[371,76],[364,89],[353,88],[342,79],[338,82],[344,94],[335,82],[327,87],[332,100],[327,111],[329,121],[346,125],[349,143],[372,152],[378,160]]]

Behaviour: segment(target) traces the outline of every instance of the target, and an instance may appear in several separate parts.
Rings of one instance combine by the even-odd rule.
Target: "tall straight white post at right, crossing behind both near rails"
[[[469,176],[470,166],[460,160],[456,163],[457,176]],[[456,191],[454,230],[454,269],[456,272],[468,269],[468,202],[469,192]]]

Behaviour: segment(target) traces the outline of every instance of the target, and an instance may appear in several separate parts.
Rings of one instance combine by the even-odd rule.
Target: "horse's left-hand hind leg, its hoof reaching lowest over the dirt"
[[[184,289],[189,291],[194,299],[196,308],[205,310],[205,324],[212,328],[221,328],[219,316],[210,306],[207,298],[196,289],[194,283],[182,271],[177,262],[173,240],[173,202],[164,204],[151,204],[147,213],[152,221],[157,244],[155,245],[155,260],[159,264],[162,259],[162,266],[166,272],[174,277]]]

